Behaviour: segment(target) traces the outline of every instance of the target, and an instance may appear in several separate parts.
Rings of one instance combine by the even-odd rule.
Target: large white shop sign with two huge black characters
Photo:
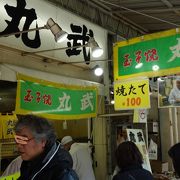
[[[49,18],[52,18],[68,33],[67,40],[60,44],[55,43],[50,30],[43,29],[39,32],[33,31],[28,32],[28,34],[21,34],[19,37],[15,37],[14,35],[10,37],[1,37],[0,44],[2,45],[24,51],[40,51],[82,45],[83,43],[87,43],[90,36],[93,36],[99,46],[104,50],[104,54],[96,59],[102,60],[107,58],[107,31],[79,16],[59,8],[58,6],[44,0],[1,0],[0,12],[1,35],[9,34],[12,30],[17,32],[24,29],[36,28],[36,26],[42,27],[47,23]],[[32,20],[30,18],[32,18]],[[81,47],[70,49],[69,51],[58,50],[45,52],[41,53],[41,55],[46,55],[65,62],[79,62],[88,59],[90,54],[88,47]],[[91,57],[90,60],[93,61],[94,59]],[[100,62],[98,64],[100,64]]]

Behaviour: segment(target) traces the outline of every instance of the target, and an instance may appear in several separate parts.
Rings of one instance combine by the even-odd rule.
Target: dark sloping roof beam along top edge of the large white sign
[[[62,1],[58,1],[58,0],[46,0],[46,1],[48,1],[49,3],[55,4],[56,6],[59,6],[67,11],[70,11],[71,13],[75,13],[78,16],[81,16],[82,18],[85,18],[88,21],[103,27],[104,29],[107,29],[109,33],[112,33],[112,34],[116,34],[116,35],[118,34],[125,38],[132,38],[132,37],[136,37],[136,36],[140,36],[142,34],[148,33],[148,30],[143,29],[142,27],[140,28],[139,26],[130,24],[125,19],[122,19],[118,17],[117,15],[112,14],[108,7],[105,8],[105,6],[103,5],[99,7],[99,5],[96,4],[92,0],[91,1],[90,0],[88,1],[73,0],[69,4],[62,3]],[[76,9],[75,4],[77,4],[78,7],[80,8]],[[82,12],[81,7],[83,6],[84,6],[84,10]],[[87,8],[88,9],[90,8],[92,10],[92,13],[86,13]],[[107,19],[108,19],[108,23],[107,23]],[[117,26],[119,23],[120,25]]]

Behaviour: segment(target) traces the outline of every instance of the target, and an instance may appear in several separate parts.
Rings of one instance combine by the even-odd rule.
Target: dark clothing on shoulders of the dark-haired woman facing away
[[[152,174],[140,165],[132,165],[119,171],[113,180],[153,180]]]

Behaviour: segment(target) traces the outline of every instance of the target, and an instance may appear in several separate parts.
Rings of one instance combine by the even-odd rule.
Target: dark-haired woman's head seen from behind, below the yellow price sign
[[[125,141],[119,144],[115,155],[117,165],[120,169],[131,165],[141,165],[143,163],[142,155],[139,149],[131,141]]]

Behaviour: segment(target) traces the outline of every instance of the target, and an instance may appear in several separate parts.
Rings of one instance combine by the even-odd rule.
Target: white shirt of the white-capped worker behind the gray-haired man
[[[76,171],[79,180],[95,180],[88,147],[73,143],[69,152],[73,159],[73,169]]]

